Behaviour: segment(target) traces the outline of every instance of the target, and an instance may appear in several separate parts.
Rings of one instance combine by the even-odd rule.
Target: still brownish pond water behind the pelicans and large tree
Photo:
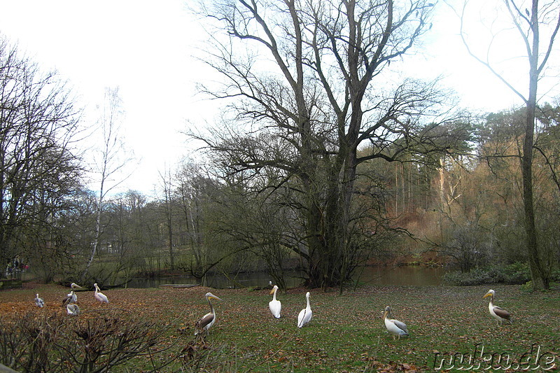
[[[360,274],[358,269],[356,276],[360,275],[360,283],[368,285],[401,285],[401,286],[429,286],[441,285],[445,270],[441,267],[363,267]],[[207,286],[216,289],[244,288],[251,286],[267,286],[272,280],[266,272],[252,272],[238,274],[237,276],[223,276],[215,274],[207,278]],[[286,286],[293,288],[301,283],[300,272],[286,272]],[[153,279],[134,278],[128,283],[129,288],[157,288],[161,285],[193,284],[199,282],[194,277],[173,276],[158,277]]]

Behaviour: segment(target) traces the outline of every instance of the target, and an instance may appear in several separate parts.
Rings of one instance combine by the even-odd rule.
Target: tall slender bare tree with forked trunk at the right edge
[[[538,101],[538,81],[545,73],[545,67],[553,51],[554,40],[560,28],[560,4],[557,1],[514,1],[502,0],[504,12],[510,17],[510,25],[516,31],[518,43],[526,52],[524,57],[528,62],[526,89],[519,89],[513,78],[504,76],[498,69],[499,64],[493,62],[490,51],[496,34],[491,36],[485,56],[478,55],[471,50],[472,43],[465,33],[465,12],[468,2],[465,2],[461,12],[461,38],[468,52],[478,62],[486,66],[500,81],[510,88],[526,106],[525,134],[521,152],[521,176],[523,178],[523,204],[525,216],[526,245],[531,278],[534,288],[548,289],[550,286],[549,255],[542,253],[538,244],[538,232],[535,225],[535,207],[533,196],[533,144],[535,135],[535,111]],[[494,22],[493,20],[492,22]],[[491,29],[491,28],[490,28]],[[542,31],[548,31],[542,38]],[[502,30],[503,31],[503,30]],[[479,41],[477,41],[479,43]],[[508,44],[510,47],[511,44]],[[542,48],[544,47],[544,48]],[[544,52],[542,52],[544,50]]]

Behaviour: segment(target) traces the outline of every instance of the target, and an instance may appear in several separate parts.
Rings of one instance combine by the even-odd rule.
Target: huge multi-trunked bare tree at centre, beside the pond
[[[283,245],[304,260],[309,286],[339,285],[350,276],[353,232],[368,230],[353,211],[358,164],[441,150],[454,137],[441,132],[435,118],[425,119],[444,100],[435,83],[391,81],[398,75],[389,69],[430,28],[433,3],[214,5],[206,13],[228,38],[214,33],[208,60],[224,84],[206,92],[228,99],[235,117],[211,136],[192,135],[221,159],[224,177],[276,170],[270,187],[293,190],[295,199],[287,203],[304,231],[302,239],[285,237]],[[371,151],[358,157],[364,143]]]

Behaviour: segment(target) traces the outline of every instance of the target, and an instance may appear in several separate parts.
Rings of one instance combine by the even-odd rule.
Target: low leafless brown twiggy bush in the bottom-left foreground
[[[0,318],[0,363],[21,372],[109,372],[160,342],[164,325],[118,312],[83,318],[18,314]]]

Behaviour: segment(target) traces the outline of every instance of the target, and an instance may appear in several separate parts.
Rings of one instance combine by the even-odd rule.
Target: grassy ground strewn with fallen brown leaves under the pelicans
[[[500,327],[489,315],[487,298],[482,299],[488,289],[367,286],[343,295],[335,290],[311,290],[314,318],[302,329],[296,322],[298,312],[305,307],[304,289],[279,293],[282,317],[278,320],[269,314],[272,296],[267,290],[201,287],[106,290],[109,304],[98,304],[92,292],[80,292],[78,304],[83,314],[78,318],[94,323],[101,316],[118,315],[153,321],[164,330],[151,351],[165,351],[135,357],[113,371],[148,371],[171,362],[161,371],[425,372],[440,366],[450,368],[451,363],[454,368],[482,372],[488,364],[483,358],[491,358],[492,353],[502,354],[503,359],[509,354],[510,359],[532,360],[539,353],[540,367],[559,367],[560,292],[526,293],[519,286],[493,286],[496,304],[510,311],[514,320],[512,325]],[[207,344],[195,345],[193,327],[208,311],[207,291],[223,302],[214,302],[218,319]],[[45,299],[45,309],[34,306],[35,293]],[[63,314],[60,300],[66,293],[68,290],[59,286],[32,285],[2,291],[0,314],[5,320],[27,312],[37,316]],[[394,318],[407,323],[410,337],[393,340],[388,335],[382,320],[386,305],[391,306]],[[458,354],[455,359],[454,354]],[[184,357],[174,360],[179,355]],[[481,364],[479,369],[468,364],[470,355],[475,355],[472,363]],[[463,363],[458,356],[465,358]],[[532,360],[521,362],[526,364],[521,368],[535,367],[536,362],[530,365]],[[507,371],[506,367],[505,360],[494,366],[500,372]],[[514,367],[511,365],[509,371]]]

